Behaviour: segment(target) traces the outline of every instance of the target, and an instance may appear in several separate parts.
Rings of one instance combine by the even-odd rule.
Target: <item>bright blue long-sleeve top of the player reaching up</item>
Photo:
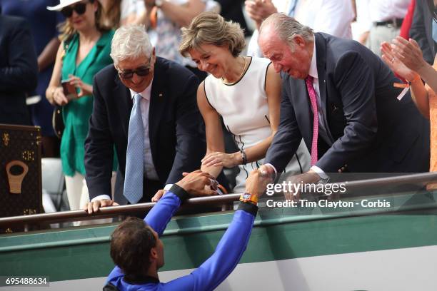
[[[172,189],[171,189],[172,190]],[[166,193],[161,200],[152,208],[144,221],[153,228],[156,233],[164,233],[167,223],[181,205],[181,199],[171,191]],[[256,207],[242,203],[233,215],[231,224],[214,251],[199,268],[184,277],[162,283],[145,282],[144,284],[130,284],[124,280],[124,273],[119,267],[109,274],[106,283],[111,283],[120,291],[133,290],[214,290],[223,280],[228,277],[238,264],[241,255],[246,250],[248,239],[251,235],[253,220],[255,220]]]

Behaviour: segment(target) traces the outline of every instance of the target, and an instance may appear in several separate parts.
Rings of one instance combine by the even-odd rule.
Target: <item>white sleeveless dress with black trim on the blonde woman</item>
[[[271,135],[268,121],[266,73],[271,63],[267,58],[251,58],[240,81],[231,85],[210,75],[205,79],[205,93],[209,104],[223,117],[226,129],[240,150],[251,148]],[[296,156],[298,158],[296,158]],[[259,168],[264,159],[238,165],[233,193],[244,192],[248,174]],[[286,173],[304,173],[310,167],[310,155],[303,142],[286,167]]]

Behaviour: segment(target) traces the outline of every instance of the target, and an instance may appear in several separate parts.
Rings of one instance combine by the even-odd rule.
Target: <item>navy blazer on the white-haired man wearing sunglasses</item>
[[[206,152],[203,123],[196,103],[199,79],[179,64],[156,58],[149,109],[151,155],[159,182],[176,183],[183,172],[200,168]],[[111,195],[112,155],[115,145],[122,175],[132,98],[114,65],[94,77],[94,107],[85,141],[86,183],[90,199]],[[154,194],[154,193],[153,193]],[[153,195],[152,194],[152,195]],[[149,193],[151,195],[151,193]]]

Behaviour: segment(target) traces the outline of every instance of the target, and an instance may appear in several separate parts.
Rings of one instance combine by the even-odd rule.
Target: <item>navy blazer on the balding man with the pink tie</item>
[[[318,138],[326,173],[423,172],[429,168],[429,121],[381,58],[356,41],[315,34],[318,84],[329,141]],[[304,80],[283,74],[281,122],[266,154],[281,172],[301,138],[311,152],[313,113]]]

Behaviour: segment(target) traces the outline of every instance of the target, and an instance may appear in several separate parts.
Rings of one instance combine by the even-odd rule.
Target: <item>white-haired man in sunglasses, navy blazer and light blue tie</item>
[[[200,168],[205,153],[196,104],[199,80],[155,55],[144,26],[124,26],[111,44],[114,65],[94,78],[94,108],[85,141],[89,213],[114,205],[111,155],[116,148],[124,197],[150,202],[182,173]]]

